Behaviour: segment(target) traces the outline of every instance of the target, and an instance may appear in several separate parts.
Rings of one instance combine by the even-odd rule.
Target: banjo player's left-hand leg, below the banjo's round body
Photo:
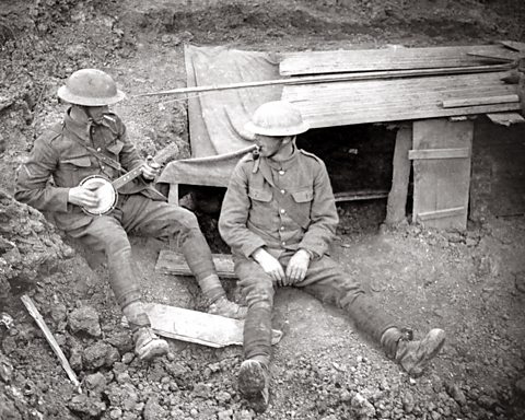
[[[156,337],[142,306],[142,293],[133,269],[131,246],[119,221],[113,217],[94,218],[88,226],[68,232],[85,246],[104,250],[110,271],[110,285],[118,305],[128,319],[136,352],[140,359],[150,360],[165,354],[167,342]]]

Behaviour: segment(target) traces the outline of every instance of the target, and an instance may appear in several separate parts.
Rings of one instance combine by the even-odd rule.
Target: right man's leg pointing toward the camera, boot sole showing
[[[269,401],[273,284],[260,266],[250,259],[235,258],[235,273],[248,305],[244,322],[245,360],[238,373],[238,390],[254,410],[262,412]]]

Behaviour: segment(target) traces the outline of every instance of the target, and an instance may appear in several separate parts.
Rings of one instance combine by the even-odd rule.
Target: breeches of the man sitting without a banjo
[[[285,253],[279,258],[284,269],[292,256]],[[245,357],[269,360],[275,284],[253,259],[236,256],[235,273],[248,305],[244,324]],[[293,287],[345,310],[355,326],[377,342],[386,329],[395,326],[393,318],[364,292],[361,284],[328,256],[312,260],[304,280]]]

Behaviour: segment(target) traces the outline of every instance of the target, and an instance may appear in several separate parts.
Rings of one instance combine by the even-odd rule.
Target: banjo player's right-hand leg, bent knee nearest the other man
[[[122,225],[126,231],[178,241],[186,262],[210,304],[210,313],[244,318],[246,308],[226,299],[215,271],[210,247],[192,212],[141,195],[129,196],[124,200],[121,209]]]

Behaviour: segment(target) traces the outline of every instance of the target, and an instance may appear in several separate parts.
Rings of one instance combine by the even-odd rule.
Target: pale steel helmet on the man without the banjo
[[[301,112],[287,101],[272,101],[260,105],[245,126],[247,131],[255,135],[275,137],[300,135],[308,128]]]

